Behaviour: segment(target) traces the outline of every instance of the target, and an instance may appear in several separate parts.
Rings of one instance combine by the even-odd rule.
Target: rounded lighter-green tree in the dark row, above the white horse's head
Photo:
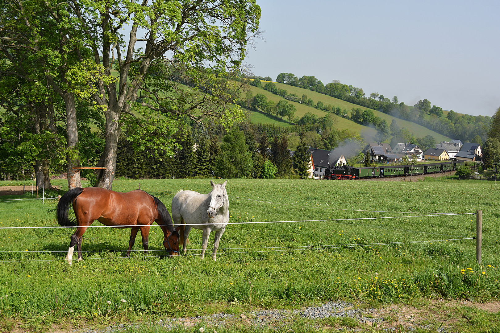
[[[222,139],[220,155],[215,158],[215,175],[221,178],[250,177],[253,169],[251,153],[245,144],[245,136],[233,127]]]

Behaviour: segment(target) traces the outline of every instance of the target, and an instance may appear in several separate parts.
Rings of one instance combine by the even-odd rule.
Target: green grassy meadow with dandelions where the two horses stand
[[[208,179],[115,179],[113,190],[130,191],[139,182],[168,209],[178,190],[210,190]],[[65,180],[53,185],[67,190]],[[197,257],[197,230],[186,256],[162,257],[163,235],[153,227],[153,251],[144,256],[137,238],[136,252],[125,259],[129,229],[89,228],[84,261],[72,266],[63,258],[73,229],[1,229],[1,317],[36,328],[61,321],[238,314],[338,299],[379,306],[500,296],[500,189],[493,182],[229,179],[226,188],[229,222],[292,222],[228,225],[217,262]],[[31,194],[0,197],[19,198]],[[57,226],[55,207],[55,199],[1,201],[0,227]],[[474,215],[417,216],[477,209],[483,211],[482,266],[470,239]],[[390,218],[375,219],[380,217]],[[364,219],[339,220],[356,218]],[[336,221],[307,222],[330,219]]]

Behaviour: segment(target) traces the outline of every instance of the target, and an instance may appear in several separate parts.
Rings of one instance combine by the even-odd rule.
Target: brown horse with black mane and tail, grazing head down
[[[69,204],[73,205],[76,221],[71,221],[68,218]],[[78,246],[78,261],[83,260],[81,257],[83,233],[95,220],[106,226],[112,226],[112,228],[132,228],[127,257],[130,257],[130,250],[139,229],[142,236],[142,247],[144,253],[147,253],[149,227],[156,221],[165,237],[163,246],[170,256],[178,255],[178,229],[180,227],[175,230],[168,210],[158,198],[141,190],[120,193],[99,187],[77,187],[66,192],[57,204],[59,225],[77,227],[70,238],[67,251],[66,260],[69,265],[71,265],[75,245]],[[132,225],[133,227],[131,227]]]

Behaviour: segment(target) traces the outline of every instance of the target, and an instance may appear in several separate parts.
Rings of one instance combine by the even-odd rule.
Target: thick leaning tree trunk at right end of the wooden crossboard
[[[116,170],[116,154],[118,152],[118,138],[121,134],[120,112],[110,111],[106,114],[106,145],[98,166],[106,167],[106,170],[96,170],[97,187],[112,189],[114,173]]]

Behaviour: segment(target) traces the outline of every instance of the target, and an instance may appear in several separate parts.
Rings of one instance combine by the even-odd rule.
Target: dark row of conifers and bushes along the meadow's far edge
[[[262,133],[258,139],[251,126],[234,126],[221,140],[216,135],[207,139],[192,132],[179,134],[178,149],[173,157],[151,159],[147,152],[135,151],[124,134],[119,139],[116,175],[126,178],[289,178],[292,160],[288,150],[288,134],[281,132],[274,138]],[[304,149],[305,141],[301,141]],[[298,148],[297,148],[298,149]],[[305,148],[306,149],[306,148]],[[309,155],[297,160],[307,164]],[[296,158],[295,158],[296,159]],[[154,163],[152,162],[154,160]],[[303,172],[299,175],[304,176]],[[307,175],[305,175],[306,177]]]

